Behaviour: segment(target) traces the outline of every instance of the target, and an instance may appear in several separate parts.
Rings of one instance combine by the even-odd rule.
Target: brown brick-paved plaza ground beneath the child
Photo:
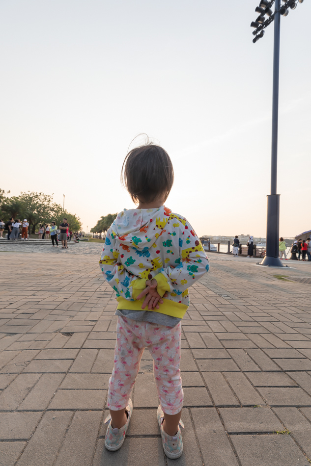
[[[125,443],[104,448],[116,320],[97,257],[0,260],[1,466],[310,466],[308,262],[280,271],[211,256],[183,321],[186,428],[184,453],[172,461],[148,351]]]

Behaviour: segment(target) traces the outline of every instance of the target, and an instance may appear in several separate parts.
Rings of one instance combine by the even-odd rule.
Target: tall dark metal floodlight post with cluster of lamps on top
[[[264,35],[264,29],[274,21],[273,46],[273,93],[272,93],[272,146],[271,146],[271,191],[267,196],[267,237],[266,256],[261,265],[283,267],[279,257],[279,224],[280,224],[280,194],[277,194],[278,169],[278,117],[279,117],[279,70],[280,70],[280,19],[288,15],[288,8],[294,10],[297,3],[304,0],[261,0],[255,11],[259,13],[254,27],[253,42],[256,43]],[[274,3],[274,13],[271,7]],[[267,15],[267,18],[265,17]]]

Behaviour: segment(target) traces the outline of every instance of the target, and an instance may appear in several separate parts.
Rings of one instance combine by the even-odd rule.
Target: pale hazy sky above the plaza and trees
[[[0,188],[64,194],[89,231],[135,207],[120,171],[146,133],[174,166],[166,206],[198,235],[265,236],[273,24],[253,44],[258,3],[1,1]],[[281,17],[284,237],[311,229],[310,18],[310,1]]]

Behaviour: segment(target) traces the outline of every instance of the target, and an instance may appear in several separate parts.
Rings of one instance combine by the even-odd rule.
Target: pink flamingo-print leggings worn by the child
[[[113,411],[126,408],[143,350],[148,348],[153,358],[153,373],[161,408],[166,414],[179,413],[184,394],[179,370],[180,343],[181,322],[175,327],[166,327],[118,316],[108,408]]]

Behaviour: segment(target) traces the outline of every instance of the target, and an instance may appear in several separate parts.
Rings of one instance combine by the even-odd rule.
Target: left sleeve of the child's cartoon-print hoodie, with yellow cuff
[[[104,279],[113,287],[116,296],[122,296],[125,299],[134,301],[146,287],[146,280],[128,272],[126,268],[118,261],[120,252],[115,248],[116,234],[113,232],[115,222],[109,228],[106,234],[105,246],[99,261],[99,266],[103,273]]]

